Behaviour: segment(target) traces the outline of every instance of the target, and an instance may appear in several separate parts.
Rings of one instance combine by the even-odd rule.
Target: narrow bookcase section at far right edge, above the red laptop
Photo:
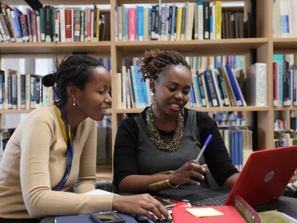
[[[274,147],[297,145],[296,1],[272,5]],[[282,20],[286,18],[286,22]]]

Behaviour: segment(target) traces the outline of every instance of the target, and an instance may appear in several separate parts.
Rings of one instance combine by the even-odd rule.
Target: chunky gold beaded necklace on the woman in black
[[[146,125],[148,128],[148,134],[151,136],[151,140],[158,149],[172,152],[175,151],[177,147],[179,147],[181,137],[184,134],[184,116],[182,114],[182,110],[183,109],[181,109],[177,114],[177,125],[175,126],[173,140],[168,144],[164,143],[161,135],[159,134],[152,107],[148,107],[148,109],[146,110]]]

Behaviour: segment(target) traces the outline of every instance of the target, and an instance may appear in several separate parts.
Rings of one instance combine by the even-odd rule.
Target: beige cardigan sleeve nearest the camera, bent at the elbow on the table
[[[52,191],[49,158],[54,136],[53,123],[53,118],[47,113],[36,111],[30,115],[26,128],[20,133],[21,190],[29,215],[35,218],[111,210],[113,195]]]

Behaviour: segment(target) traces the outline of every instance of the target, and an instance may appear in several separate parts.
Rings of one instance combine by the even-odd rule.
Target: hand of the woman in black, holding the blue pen
[[[186,162],[183,166],[181,166],[176,171],[172,171],[169,174],[169,182],[170,184],[182,185],[182,184],[192,184],[192,185],[200,185],[199,182],[195,180],[190,180],[190,177],[199,178],[201,180],[204,179],[203,175],[198,172],[204,172],[207,168],[206,164],[200,166],[197,164],[196,160],[191,160]]]

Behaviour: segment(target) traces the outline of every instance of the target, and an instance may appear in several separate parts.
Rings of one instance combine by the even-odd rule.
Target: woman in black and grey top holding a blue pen
[[[115,187],[131,193],[162,191],[181,184],[207,187],[201,174],[206,168],[220,187],[232,187],[239,173],[216,123],[203,112],[184,108],[192,84],[184,57],[175,51],[152,50],[146,52],[140,66],[142,79],[150,80],[152,105],[122,120],[118,128]],[[197,163],[209,134],[212,140]]]

